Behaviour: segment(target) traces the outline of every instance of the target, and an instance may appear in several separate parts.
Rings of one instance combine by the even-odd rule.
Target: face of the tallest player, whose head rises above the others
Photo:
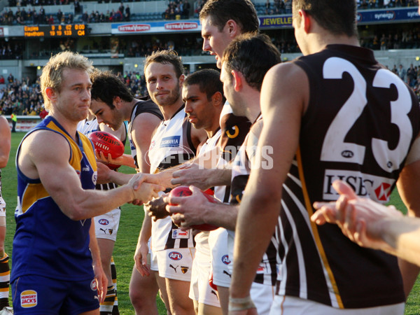
[[[218,27],[211,25],[211,18],[208,16],[201,20],[202,23],[202,38],[203,50],[209,51],[210,55],[216,56],[216,65],[218,69],[222,68],[221,59],[223,51],[228,47],[232,38],[228,33],[228,25],[225,25],[222,31]]]

